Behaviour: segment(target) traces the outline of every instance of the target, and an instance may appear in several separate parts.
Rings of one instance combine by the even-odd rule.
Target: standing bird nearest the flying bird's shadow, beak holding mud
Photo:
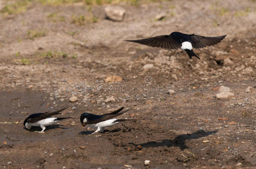
[[[129,111],[125,110],[123,112],[120,112],[123,110],[124,107],[113,111],[109,114],[103,114],[103,115],[95,115],[90,113],[83,113],[80,116],[80,121],[82,126],[86,126],[86,124],[93,129],[97,129],[92,134],[97,133],[99,131],[103,131],[105,127],[113,126],[115,124],[118,124],[122,121],[132,120],[132,119],[112,119],[116,116],[119,116],[121,114],[124,114],[125,112]],[[120,112],[120,113],[119,113]]]

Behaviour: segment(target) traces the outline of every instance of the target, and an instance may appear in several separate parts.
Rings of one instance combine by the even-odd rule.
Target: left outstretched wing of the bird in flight
[[[181,44],[176,42],[171,35],[160,35],[152,38],[125,41],[166,49],[178,49],[181,47]]]

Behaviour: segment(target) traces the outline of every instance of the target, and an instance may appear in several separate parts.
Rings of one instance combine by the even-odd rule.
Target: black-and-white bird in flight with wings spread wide
[[[192,56],[199,58],[193,52],[193,48],[204,48],[219,43],[226,35],[216,37],[206,37],[195,34],[185,34],[180,32],[173,32],[170,35],[159,35],[152,38],[145,38],[139,40],[125,40],[128,42],[140,43],[152,47],[166,48],[166,49],[181,49],[188,53],[189,58]],[[200,58],[199,58],[200,59]]]

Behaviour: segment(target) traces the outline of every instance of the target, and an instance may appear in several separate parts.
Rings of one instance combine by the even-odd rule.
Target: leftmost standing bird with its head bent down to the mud
[[[66,107],[68,108],[68,107]],[[63,119],[69,119],[71,117],[51,117],[52,115],[55,114],[60,114],[59,112],[65,110],[66,108],[62,108],[57,111],[53,112],[45,112],[45,113],[36,113],[36,114],[31,114],[28,118],[24,120],[24,126],[26,129],[30,130],[32,126],[40,126],[42,128],[42,131],[35,131],[37,133],[44,133],[44,130],[46,129],[45,126],[50,126],[57,121],[63,120]]]

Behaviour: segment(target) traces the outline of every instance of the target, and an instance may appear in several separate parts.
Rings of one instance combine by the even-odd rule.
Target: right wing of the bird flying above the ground
[[[219,43],[226,35],[216,37],[206,37],[200,35],[191,35],[193,48],[204,48]]]

